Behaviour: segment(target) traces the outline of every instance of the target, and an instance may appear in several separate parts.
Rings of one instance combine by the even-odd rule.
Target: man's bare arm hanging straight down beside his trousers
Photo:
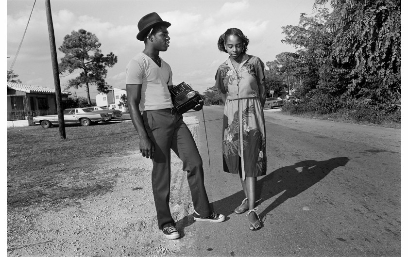
[[[140,153],[146,158],[153,159],[154,144],[149,138],[146,128],[143,124],[143,117],[140,114],[139,103],[142,93],[142,84],[126,85],[126,97],[128,101],[128,109],[133,126],[135,126],[137,134],[139,134]]]

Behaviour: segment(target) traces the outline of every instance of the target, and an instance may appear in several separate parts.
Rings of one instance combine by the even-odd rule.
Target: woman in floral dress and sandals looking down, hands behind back
[[[218,48],[229,54],[215,76],[225,104],[222,161],[224,171],[238,173],[245,199],[235,213],[248,213],[249,229],[261,227],[255,208],[256,177],[266,175],[264,64],[246,54],[249,40],[236,28],[228,29],[218,40]]]

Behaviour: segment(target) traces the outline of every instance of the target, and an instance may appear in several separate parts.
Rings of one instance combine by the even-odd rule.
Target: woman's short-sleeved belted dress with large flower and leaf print
[[[215,80],[227,96],[222,127],[224,171],[239,173],[244,180],[266,175],[265,118],[259,98],[265,76],[258,57],[245,54],[242,61],[237,73],[228,58]]]

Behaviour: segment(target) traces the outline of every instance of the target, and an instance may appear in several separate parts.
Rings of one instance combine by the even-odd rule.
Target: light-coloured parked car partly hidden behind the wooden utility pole
[[[107,121],[109,116],[106,113],[95,113],[85,108],[72,108],[64,110],[65,124],[81,124],[89,126],[92,122]],[[41,125],[43,128],[50,128],[52,125],[58,125],[58,115],[45,115],[33,117],[32,125]]]

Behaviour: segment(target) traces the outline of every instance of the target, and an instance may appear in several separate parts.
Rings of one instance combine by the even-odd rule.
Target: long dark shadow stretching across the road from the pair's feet
[[[271,197],[279,195],[271,205],[259,213],[260,218],[265,217],[270,211],[284,203],[291,197],[302,193],[326,177],[334,169],[346,165],[350,159],[347,157],[332,158],[327,161],[299,161],[293,165],[279,168],[267,176],[259,179],[256,184],[256,199],[258,205]],[[296,168],[301,169],[298,171]],[[213,202],[213,209],[228,216],[234,212],[245,198],[243,191],[234,193],[221,200]]]

